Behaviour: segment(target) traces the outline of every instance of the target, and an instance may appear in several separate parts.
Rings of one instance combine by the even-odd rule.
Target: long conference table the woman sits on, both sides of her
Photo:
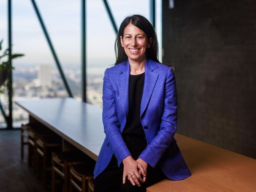
[[[63,139],[63,149],[75,147],[97,160],[105,138],[102,108],[73,98],[16,101],[30,122],[42,123]],[[256,192],[256,159],[175,134],[192,173],[180,181],[164,179],[147,192]]]

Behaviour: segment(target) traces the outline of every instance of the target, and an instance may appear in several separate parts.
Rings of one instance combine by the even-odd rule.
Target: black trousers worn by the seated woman
[[[143,137],[126,135],[123,136],[123,140],[135,160],[147,146],[146,138]],[[148,186],[165,177],[159,165],[154,169],[148,165],[146,182],[140,183],[140,187],[133,186],[127,178],[123,184],[123,164],[121,163],[118,168],[117,160],[113,155],[107,168],[95,178],[94,192],[146,192]]]

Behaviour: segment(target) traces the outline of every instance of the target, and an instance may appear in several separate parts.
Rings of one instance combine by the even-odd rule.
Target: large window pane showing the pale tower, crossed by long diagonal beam
[[[80,1],[36,4],[75,99],[81,100]],[[68,96],[31,1],[13,0],[13,52],[25,54],[13,60],[13,101]],[[13,125],[27,119],[14,104]]]

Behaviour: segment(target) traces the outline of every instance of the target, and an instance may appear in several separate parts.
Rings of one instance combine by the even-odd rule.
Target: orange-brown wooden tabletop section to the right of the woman
[[[164,179],[147,192],[256,191],[256,159],[180,134],[175,139],[192,175],[180,181]]]

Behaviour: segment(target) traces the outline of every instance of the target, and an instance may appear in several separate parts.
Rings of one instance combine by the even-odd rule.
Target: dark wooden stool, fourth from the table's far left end
[[[94,161],[82,151],[62,151],[58,153],[52,152],[52,192],[55,192],[56,183],[62,183],[63,191],[68,192],[69,166],[71,163],[77,164],[81,162],[90,163]],[[56,179],[56,173],[62,177],[61,180]]]

